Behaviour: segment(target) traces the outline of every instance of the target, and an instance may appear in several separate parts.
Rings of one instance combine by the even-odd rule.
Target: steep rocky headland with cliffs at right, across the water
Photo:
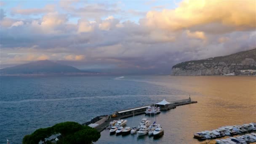
[[[256,75],[256,48],[228,56],[185,61],[172,67],[172,75]]]

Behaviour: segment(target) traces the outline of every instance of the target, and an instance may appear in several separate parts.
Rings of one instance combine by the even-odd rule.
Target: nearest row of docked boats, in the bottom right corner
[[[256,133],[245,134],[243,136],[229,137],[227,139],[216,139],[217,144],[248,144],[256,141]]]

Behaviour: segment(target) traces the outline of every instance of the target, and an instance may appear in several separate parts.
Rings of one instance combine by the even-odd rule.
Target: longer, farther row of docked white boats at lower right
[[[244,125],[223,126],[212,131],[201,131],[194,134],[196,139],[213,139],[221,136],[237,135],[241,133],[256,131],[256,123]]]

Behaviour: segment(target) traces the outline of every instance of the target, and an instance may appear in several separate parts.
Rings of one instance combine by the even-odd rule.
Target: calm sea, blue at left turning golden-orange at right
[[[102,131],[97,144],[197,144],[193,133],[224,125],[256,122],[256,77],[173,76],[45,76],[0,77],[0,144],[21,144],[37,128],[64,121],[84,123],[98,115],[162,101],[187,99],[157,115],[162,138],[109,136]],[[138,126],[144,115],[134,117]],[[149,117],[148,117],[149,118]],[[132,118],[128,118],[131,126]]]

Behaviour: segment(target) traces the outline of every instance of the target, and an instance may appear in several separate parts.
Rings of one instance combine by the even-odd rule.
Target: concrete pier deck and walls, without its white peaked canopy
[[[184,100],[179,100],[179,101],[171,101],[170,103],[171,104],[168,104],[168,106],[164,107],[163,109],[161,108],[161,110],[174,109],[178,106],[182,106],[185,104],[197,103],[197,101],[191,101],[191,99],[189,98],[189,99],[184,99]],[[149,104],[147,106],[135,107],[135,108],[131,108],[131,109],[124,109],[124,110],[116,111],[115,112],[116,117],[111,117],[111,115],[109,115],[108,117],[104,117],[101,120],[97,121],[96,124],[98,124],[98,125],[95,127],[95,129],[97,131],[101,132],[105,128],[108,127],[110,121],[124,119],[127,117],[132,117],[133,111],[134,111],[134,115],[145,114],[145,110],[147,109],[147,107],[152,106],[152,105],[154,105],[154,104]]]

